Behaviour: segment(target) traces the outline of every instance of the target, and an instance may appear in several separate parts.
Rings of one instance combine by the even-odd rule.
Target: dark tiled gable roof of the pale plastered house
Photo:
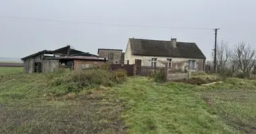
[[[163,40],[129,38],[129,42],[133,55],[205,59],[203,52],[193,42],[177,42],[177,47]]]

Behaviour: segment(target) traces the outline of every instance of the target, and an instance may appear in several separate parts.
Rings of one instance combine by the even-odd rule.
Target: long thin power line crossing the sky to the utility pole
[[[117,23],[99,23],[99,22],[89,22],[89,21],[67,21],[59,19],[38,19],[30,17],[11,17],[11,16],[0,16],[2,18],[9,19],[29,19],[35,21],[59,21],[59,22],[68,22],[68,23],[86,23],[94,25],[109,25],[109,26],[123,26],[123,27],[155,27],[155,28],[164,28],[164,29],[197,29],[197,30],[212,30],[211,28],[202,28],[202,27],[167,27],[161,25],[131,25],[131,24],[117,24]]]

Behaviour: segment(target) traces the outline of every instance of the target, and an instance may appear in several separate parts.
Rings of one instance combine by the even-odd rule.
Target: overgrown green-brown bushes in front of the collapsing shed
[[[125,70],[107,70],[91,69],[72,71],[54,75],[51,84],[59,86],[55,94],[67,94],[69,92],[79,92],[83,88],[94,88],[96,86],[112,86],[115,83],[121,83],[126,78]]]

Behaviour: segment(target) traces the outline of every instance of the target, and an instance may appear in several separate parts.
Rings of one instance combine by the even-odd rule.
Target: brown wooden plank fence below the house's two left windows
[[[137,66],[136,74],[139,76],[151,76],[152,72],[165,72],[165,67]]]

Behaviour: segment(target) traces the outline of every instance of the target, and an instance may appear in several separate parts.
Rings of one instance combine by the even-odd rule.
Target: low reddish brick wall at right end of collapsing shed
[[[99,65],[99,64],[104,64],[106,62],[101,62],[101,61],[91,61],[91,60],[74,60],[74,70],[79,70],[81,67],[87,67],[90,65]]]

